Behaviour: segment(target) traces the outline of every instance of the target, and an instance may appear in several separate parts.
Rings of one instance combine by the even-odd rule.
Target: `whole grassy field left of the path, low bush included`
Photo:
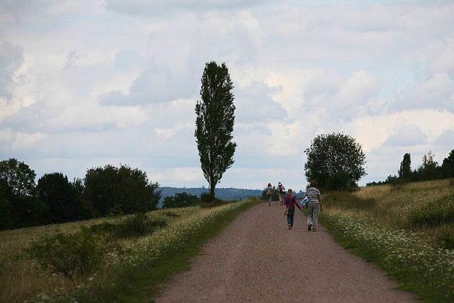
[[[152,211],[144,219],[148,225],[140,221],[140,228],[132,227],[139,233],[131,235],[117,231],[131,225],[132,216],[2,231],[0,302],[149,302],[160,283],[187,268],[201,244],[254,203]],[[70,244],[59,247],[55,239]],[[75,264],[70,275],[58,270],[67,263]],[[91,267],[77,271],[81,264]]]

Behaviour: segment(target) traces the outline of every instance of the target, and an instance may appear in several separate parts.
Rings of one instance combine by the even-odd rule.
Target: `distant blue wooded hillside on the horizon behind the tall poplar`
[[[160,187],[161,201],[165,197],[175,196],[182,192],[187,194],[195,194],[197,197],[204,192],[208,192],[206,187]],[[216,188],[216,198],[221,200],[240,200],[249,197],[260,197],[262,190],[260,189],[241,189],[241,188]]]

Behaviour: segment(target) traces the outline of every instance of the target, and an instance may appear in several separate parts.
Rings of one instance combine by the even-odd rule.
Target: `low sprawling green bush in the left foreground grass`
[[[88,228],[67,235],[55,233],[43,236],[28,248],[27,253],[44,270],[63,274],[72,279],[94,272],[102,263],[107,243],[96,238]]]

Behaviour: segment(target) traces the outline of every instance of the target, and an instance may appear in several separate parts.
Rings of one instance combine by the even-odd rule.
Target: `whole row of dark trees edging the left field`
[[[35,171],[14,158],[0,162],[0,230],[133,214],[156,209],[157,182],[128,165],[92,167],[83,179]]]

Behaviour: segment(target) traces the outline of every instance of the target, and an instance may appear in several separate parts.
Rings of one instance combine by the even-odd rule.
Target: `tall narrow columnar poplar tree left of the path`
[[[200,96],[196,111],[197,148],[201,170],[209,183],[211,198],[222,175],[233,165],[236,143],[232,142],[235,105],[233,105],[233,83],[228,68],[223,63],[206,63],[201,77]]]

